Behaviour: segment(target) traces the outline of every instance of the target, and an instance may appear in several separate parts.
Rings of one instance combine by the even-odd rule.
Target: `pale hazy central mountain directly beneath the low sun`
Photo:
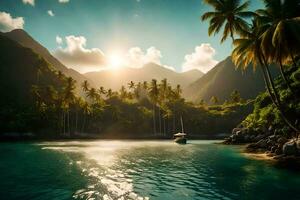
[[[119,90],[122,85],[127,86],[130,81],[143,82],[156,79],[158,81],[166,78],[172,86],[180,84],[182,88],[200,78],[203,73],[199,70],[191,70],[184,73],[177,73],[163,66],[148,63],[142,68],[121,68],[118,70],[103,70],[88,72],[84,74],[91,79],[97,87],[103,86],[113,90]]]

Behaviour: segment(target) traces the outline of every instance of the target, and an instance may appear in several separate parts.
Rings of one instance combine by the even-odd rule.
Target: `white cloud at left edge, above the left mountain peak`
[[[8,32],[13,29],[23,29],[23,17],[13,18],[9,13],[0,12],[0,31]]]

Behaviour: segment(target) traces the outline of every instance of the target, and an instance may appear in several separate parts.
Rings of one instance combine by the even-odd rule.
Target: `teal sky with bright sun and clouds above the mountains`
[[[202,0],[0,0],[0,31],[23,28],[81,73],[147,62],[207,72],[232,49],[208,36],[209,10]]]

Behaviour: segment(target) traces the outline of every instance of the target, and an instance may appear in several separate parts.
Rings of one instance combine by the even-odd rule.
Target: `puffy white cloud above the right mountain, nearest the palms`
[[[218,63],[213,58],[215,54],[215,49],[208,43],[197,46],[195,52],[184,57],[182,71],[198,69],[204,73],[208,72]]]

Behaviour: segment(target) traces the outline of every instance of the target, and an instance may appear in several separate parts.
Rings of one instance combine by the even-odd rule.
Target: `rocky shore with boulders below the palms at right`
[[[300,139],[269,127],[264,131],[234,128],[224,144],[247,144],[245,153],[265,154],[277,166],[300,170]]]

